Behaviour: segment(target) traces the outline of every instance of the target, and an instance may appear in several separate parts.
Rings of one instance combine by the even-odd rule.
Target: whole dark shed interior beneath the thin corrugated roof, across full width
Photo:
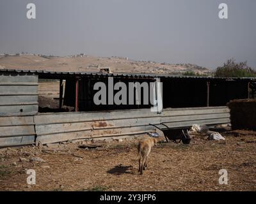
[[[163,108],[185,108],[203,106],[226,106],[232,99],[248,99],[256,96],[256,78],[218,78],[218,77],[187,77],[179,75],[153,75],[135,73],[99,73],[99,72],[57,72],[40,70],[11,70],[1,69],[1,73],[22,75],[31,73],[38,75],[40,80],[58,80],[60,82],[60,97],[58,110],[45,109],[46,112],[92,111],[92,110],[118,110],[134,108],[150,108],[152,105],[136,105],[135,96],[133,105],[95,105],[93,86],[96,82],[103,82],[108,92],[108,78],[113,78],[113,84],[124,82],[126,87],[129,82],[150,84],[160,79],[163,82]],[[65,90],[63,88],[65,80]],[[148,85],[150,87],[150,85]],[[114,95],[119,90],[114,91]],[[143,104],[141,88],[140,98]],[[135,91],[134,91],[135,94]],[[148,93],[150,96],[150,93]],[[128,100],[128,90],[126,94]],[[149,100],[150,101],[150,100]],[[128,102],[128,101],[127,101]],[[70,109],[62,108],[63,105]],[[40,103],[39,103],[40,112]]]

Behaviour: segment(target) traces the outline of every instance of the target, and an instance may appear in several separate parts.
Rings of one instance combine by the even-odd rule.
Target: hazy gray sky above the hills
[[[26,18],[35,3],[36,19]],[[228,18],[218,5],[228,4]],[[0,52],[256,67],[255,0],[1,0]]]

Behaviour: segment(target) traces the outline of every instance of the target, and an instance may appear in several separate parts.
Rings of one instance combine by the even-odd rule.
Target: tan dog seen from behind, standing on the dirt
[[[138,156],[139,156],[139,170],[140,174],[143,174],[143,170],[147,168],[148,154],[150,153],[153,146],[159,142],[160,138],[146,138],[141,140],[138,145]]]

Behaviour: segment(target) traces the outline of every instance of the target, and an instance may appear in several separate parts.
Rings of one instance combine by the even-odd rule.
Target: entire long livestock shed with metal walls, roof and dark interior
[[[40,112],[38,80],[60,82],[58,112]],[[111,96],[120,91],[113,84],[135,84],[132,100],[126,92],[127,103],[116,104],[108,97],[106,104],[95,104],[97,82],[106,85],[107,96],[112,89]],[[1,69],[0,147],[141,135],[154,131],[150,124],[161,122],[170,128],[229,123],[227,102],[250,98],[255,82],[255,78]],[[136,83],[152,89],[141,86],[138,91]],[[156,109],[144,103],[150,90]],[[64,111],[62,106],[73,109]]]

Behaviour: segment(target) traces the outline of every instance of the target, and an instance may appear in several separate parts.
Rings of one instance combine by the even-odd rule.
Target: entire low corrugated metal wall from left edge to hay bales
[[[153,131],[149,124],[165,122],[174,128],[192,124],[230,122],[226,106],[167,108],[163,113],[149,109],[112,112],[44,113],[33,116],[0,117],[0,147],[35,142],[54,143],[84,138],[140,135]]]

